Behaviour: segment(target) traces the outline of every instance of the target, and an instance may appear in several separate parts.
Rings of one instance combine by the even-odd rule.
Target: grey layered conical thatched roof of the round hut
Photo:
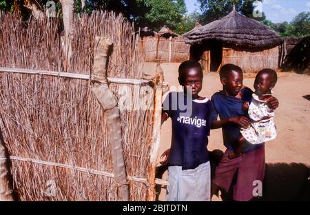
[[[208,39],[256,48],[276,46],[282,42],[280,36],[266,25],[245,17],[236,10],[185,35],[185,42],[189,44]]]

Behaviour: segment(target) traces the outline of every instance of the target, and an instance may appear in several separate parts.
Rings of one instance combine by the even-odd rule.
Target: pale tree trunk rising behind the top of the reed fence
[[[71,35],[73,26],[73,12],[74,12],[74,0],[61,0],[61,6],[63,8],[63,28],[65,35],[63,37],[63,52],[64,52],[64,68],[68,70],[70,59],[72,56],[71,48]]]

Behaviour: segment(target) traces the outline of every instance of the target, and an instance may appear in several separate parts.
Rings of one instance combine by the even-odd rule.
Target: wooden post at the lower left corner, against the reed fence
[[[0,201],[14,201],[7,159],[8,153],[0,130]]]

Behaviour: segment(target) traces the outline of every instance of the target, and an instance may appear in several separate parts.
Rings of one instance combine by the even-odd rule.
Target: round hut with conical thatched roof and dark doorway
[[[183,36],[192,45],[192,59],[202,60],[207,71],[216,71],[225,63],[239,65],[245,72],[278,69],[280,36],[236,10]]]

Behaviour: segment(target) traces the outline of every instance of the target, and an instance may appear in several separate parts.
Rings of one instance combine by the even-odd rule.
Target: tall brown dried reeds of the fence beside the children
[[[141,78],[143,58],[132,24],[109,12],[74,19],[72,58],[66,72],[92,72],[98,35],[114,43],[107,76]],[[21,23],[16,15],[2,14],[0,67],[63,71],[58,29],[58,19]],[[19,199],[118,200],[112,175],[93,171],[113,172],[113,165],[105,113],[90,91],[90,81],[8,73],[0,73],[0,81],[0,128],[14,156],[12,176]],[[152,88],[116,83],[110,88],[121,109],[127,175],[146,177],[153,113],[147,107],[152,107]],[[145,200],[146,190],[145,183],[130,181],[130,200]]]

